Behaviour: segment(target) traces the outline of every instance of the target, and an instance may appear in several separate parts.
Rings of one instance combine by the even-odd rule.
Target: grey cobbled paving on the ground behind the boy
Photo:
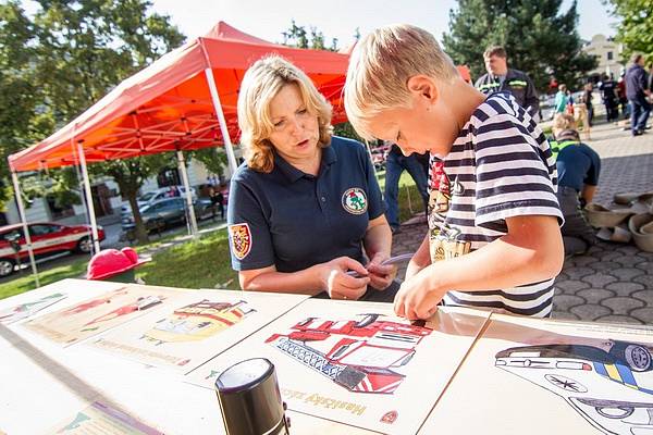
[[[611,206],[614,194],[653,190],[653,130],[632,137],[603,122],[587,141],[601,156],[594,202]],[[394,253],[415,251],[426,222],[402,226]],[[399,277],[405,269],[399,271]],[[565,262],[556,279],[555,319],[632,324],[653,323],[653,253],[634,245],[600,241],[584,256]]]

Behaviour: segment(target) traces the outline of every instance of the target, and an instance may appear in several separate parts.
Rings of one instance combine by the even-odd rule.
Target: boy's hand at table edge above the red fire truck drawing
[[[395,314],[408,320],[429,319],[438,310],[444,293],[429,288],[426,274],[406,279],[395,296]]]

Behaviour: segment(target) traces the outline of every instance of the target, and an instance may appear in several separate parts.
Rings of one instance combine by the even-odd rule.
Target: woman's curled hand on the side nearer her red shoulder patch
[[[349,257],[338,257],[317,266],[324,290],[331,299],[357,300],[367,290],[370,278],[368,271],[358,261]],[[355,271],[361,277],[354,277],[347,271]]]

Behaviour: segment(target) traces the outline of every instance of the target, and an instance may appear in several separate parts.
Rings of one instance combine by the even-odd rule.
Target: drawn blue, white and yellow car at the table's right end
[[[653,433],[651,346],[619,340],[514,347],[495,366],[558,396],[605,434]]]

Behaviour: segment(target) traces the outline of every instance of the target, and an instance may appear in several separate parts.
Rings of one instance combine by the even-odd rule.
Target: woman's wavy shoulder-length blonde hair
[[[297,85],[306,110],[318,116],[318,146],[323,148],[331,141],[331,104],[311,79],[279,55],[260,59],[245,73],[238,95],[241,145],[247,165],[255,171],[269,173],[274,167],[270,102],[287,85]]]

